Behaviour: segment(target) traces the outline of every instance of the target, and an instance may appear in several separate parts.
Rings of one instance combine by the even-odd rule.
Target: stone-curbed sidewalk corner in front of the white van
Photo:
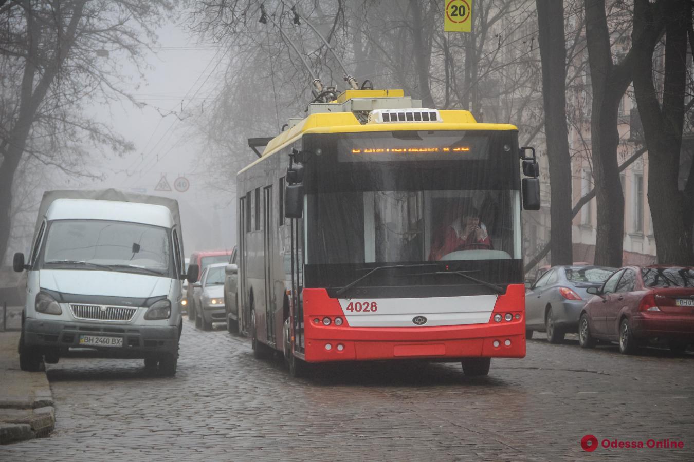
[[[19,332],[0,332],[0,444],[48,436],[56,423],[45,372],[19,368]]]

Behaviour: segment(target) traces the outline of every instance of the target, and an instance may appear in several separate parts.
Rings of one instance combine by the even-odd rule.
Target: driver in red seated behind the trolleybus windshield
[[[474,207],[464,209],[437,236],[429,260],[441,260],[444,255],[459,250],[493,248],[486,226],[480,222],[480,212]]]

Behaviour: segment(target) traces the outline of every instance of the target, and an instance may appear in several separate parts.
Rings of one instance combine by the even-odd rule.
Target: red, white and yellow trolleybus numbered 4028
[[[419,105],[398,90],[346,91],[248,141],[259,159],[237,177],[237,317],[257,357],[282,352],[292,374],[427,359],[486,375],[492,357],[525,356],[534,151],[523,157],[513,125]],[[470,215],[488,238],[441,251]]]

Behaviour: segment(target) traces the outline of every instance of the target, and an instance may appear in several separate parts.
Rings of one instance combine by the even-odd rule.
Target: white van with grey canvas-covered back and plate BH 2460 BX
[[[142,358],[174,375],[184,274],[178,202],[118,190],[50,191],[39,209],[31,255],[14,258],[27,271],[19,363],[84,348],[96,357]]]

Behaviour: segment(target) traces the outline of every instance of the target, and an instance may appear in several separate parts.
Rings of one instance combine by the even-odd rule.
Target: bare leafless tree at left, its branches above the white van
[[[67,175],[95,176],[83,167],[91,148],[132,149],[83,109],[95,100],[130,98],[117,61],[103,58],[125,57],[142,69],[142,47],[154,41],[155,26],[171,6],[169,0],[10,0],[0,6],[0,68],[10,76],[0,81],[0,256],[23,158]]]

